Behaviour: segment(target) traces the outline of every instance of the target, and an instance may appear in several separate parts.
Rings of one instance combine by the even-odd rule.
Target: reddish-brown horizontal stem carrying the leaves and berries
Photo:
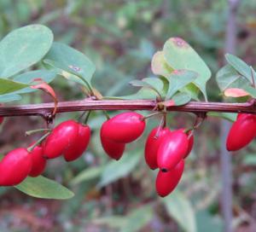
[[[57,113],[84,110],[150,110],[156,106],[151,100],[83,100],[59,102]],[[54,103],[0,106],[0,116],[40,115],[44,118],[52,112]],[[179,112],[226,112],[226,113],[256,113],[255,101],[245,103],[223,102],[189,102],[183,106],[166,107],[167,111]]]

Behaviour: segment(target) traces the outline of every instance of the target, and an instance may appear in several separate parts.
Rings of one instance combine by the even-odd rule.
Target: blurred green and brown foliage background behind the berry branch
[[[54,32],[55,41],[79,49],[96,63],[93,84],[104,96],[124,96],[136,90],[128,83],[153,75],[150,61],[166,39],[181,37],[212,70],[207,84],[210,101],[221,101],[215,75],[224,60],[227,1],[105,0],[0,1],[1,38],[17,27],[40,23]],[[237,55],[256,64],[256,2],[243,0],[237,12]],[[55,78],[52,86],[60,100],[82,99],[79,86]],[[37,92],[16,103],[48,102]],[[143,112],[147,113],[147,112]],[[56,124],[79,113],[58,115]],[[171,128],[192,125],[195,116],[169,113]],[[223,231],[219,166],[220,119],[211,118],[195,132],[195,147],[187,159],[177,190],[164,200],[155,193],[156,171],[144,163],[143,145],[159,123],[148,121],[143,136],[127,146],[124,157],[108,159],[99,140],[105,120],[92,114],[90,148],[82,158],[49,162],[46,177],[69,188],[71,200],[38,200],[14,188],[0,189],[0,231]],[[14,117],[1,127],[0,148],[27,146],[35,137],[25,131],[44,126],[38,117]],[[235,231],[255,231],[256,142],[232,157],[233,225]],[[253,230],[254,228],[254,230]]]

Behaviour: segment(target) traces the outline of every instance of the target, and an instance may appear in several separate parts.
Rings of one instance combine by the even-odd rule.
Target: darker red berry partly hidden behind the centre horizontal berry
[[[105,133],[108,133],[108,131],[106,131],[107,123],[108,121],[104,122],[101,128],[102,148],[110,158],[119,160],[125,151],[125,143],[113,142],[104,136]]]

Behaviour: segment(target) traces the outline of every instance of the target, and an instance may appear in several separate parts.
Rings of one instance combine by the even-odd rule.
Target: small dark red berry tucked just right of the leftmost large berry
[[[31,144],[31,146],[33,145],[33,143]],[[44,149],[41,146],[36,146],[30,152],[30,156],[32,158],[32,170],[28,174],[30,177],[38,177],[44,172],[46,166],[46,159],[44,158],[43,150]]]

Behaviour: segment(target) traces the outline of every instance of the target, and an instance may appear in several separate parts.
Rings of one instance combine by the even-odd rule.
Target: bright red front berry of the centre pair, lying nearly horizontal
[[[105,122],[104,137],[114,141],[128,143],[136,140],[143,134],[145,121],[143,115],[135,112],[119,113]]]

